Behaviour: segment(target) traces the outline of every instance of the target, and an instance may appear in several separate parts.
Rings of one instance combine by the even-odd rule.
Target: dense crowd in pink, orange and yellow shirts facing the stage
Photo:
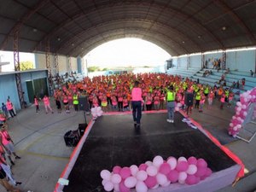
[[[195,108],[208,101],[211,105],[213,98],[217,97],[221,102],[230,103],[234,94],[220,85],[211,87],[208,84],[199,84],[191,79],[182,79],[181,76],[173,76],[164,73],[127,73],[121,75],[97,76],[93,79],[84,78],[82,81],[75,83],[63,84],[54,91],[55,105],[58,113],[64,109],[70,113],[70,108],[78,111],[79,96],[87,96],[90,108],[102,107],[104,112],[108,111],[129,111],[131,110],[131,90],[134,82],[140,83],[142,88],[142,110],[160,110],[167,107],[167,91],[170,86],[175,91],[175,103],[180,103],[181,108],[186,108],[185,95],[188,91],[193,93],[193,103]],[[53,110],[49,107],[48,96],[44,96],[45,113]],[[35,103],[38,99],[35,97]],[[201,104],[201,105],[200,105]],[[46,107],[48,106],[48,107]],[[190,109],[189,109],[190,110]],[[38,112],[38,109],[37,109]]]

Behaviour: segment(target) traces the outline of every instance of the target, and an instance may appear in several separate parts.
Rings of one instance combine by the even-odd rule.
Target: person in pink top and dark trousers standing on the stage
[[[138,87],[139,82],[135,81],[134,87],[131,90],[131,105],[132,105],[132,117],[134,126],[140,128],[142,119],[142,101],[143,91]]]

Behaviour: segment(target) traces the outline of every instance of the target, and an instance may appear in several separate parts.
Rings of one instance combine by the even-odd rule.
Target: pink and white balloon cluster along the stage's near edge
[[[212,170],[203,159],[191,156],[188,160],[185,157],[163,160],[161,156],[155,156],[153,161],[140,166],[114,166],[112,172],[102,170],[101,177],[106,191],[130,192],[135,188],[137,192],[147,192],[171,183],[196,184],[211,174]]]

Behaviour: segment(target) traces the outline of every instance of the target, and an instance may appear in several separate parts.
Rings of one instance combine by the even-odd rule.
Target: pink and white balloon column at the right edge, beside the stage
[[[250,103],[256,102],[256,88],[247,90],[240,95],[240,102],[236,102],[236,114],[230,122],[229,134],[233,137],[241,130],[241,125],[247,117],[247,110]],[[253,119],[256,118],[256,105],[253,108]]]

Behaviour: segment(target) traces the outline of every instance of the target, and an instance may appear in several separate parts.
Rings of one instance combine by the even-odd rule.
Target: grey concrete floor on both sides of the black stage
[[[256,189],[256,138],[251,143],[234,139],[227,134],[233,108],[220,110],[218,103],[211,109],[198,113],[195,109],[191,117],[230,148],[245,164],[248,173],[236,183],[218,192],[251,192]],[[54,106],[54,105],[52,105]],[[54,107],[55,108],[55,107]],[[25,192],[51,192],[55,183],[68,163],[73,148],[67,148],[63,136],[69,130],[76,130],[84,123],[84,113],[35,113],[33,106],[18,112],[14,119],[9,119],[9,134],[15,142],[17,154],[21,160],[15,160],[13,172],[15,179],[21,181],[20,190]],[[89,122],[90,115],[87,116]],[[256,131],[256,129],[255,129]],[[0,186],[0,192],[5,191]]]

